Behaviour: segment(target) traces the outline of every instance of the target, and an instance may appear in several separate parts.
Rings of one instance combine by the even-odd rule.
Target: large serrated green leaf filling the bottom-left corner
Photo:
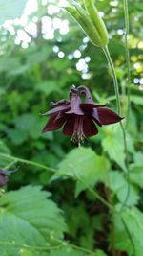
[[[19,247],[14,243],[46,246],[51,233],[62,238],[66,224],[61,210],[51,199],[47,199],[50,195],[41,191],[40,187],[27,186],[0,198],[0,241],[13,244],[1,244],[1,254],[7,248],[10,252],[12,248],[11,255],[17,255]],[[22,245],[20,247],[24,248]],[[34,255],[40,254],[35,252]]]

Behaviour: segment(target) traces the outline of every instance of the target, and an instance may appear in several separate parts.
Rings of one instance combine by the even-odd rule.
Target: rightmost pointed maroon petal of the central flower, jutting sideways
[[[97,108],[101,125],[110,125],[120,122],[123,118],[114,113],[112,110],[104,107]]]

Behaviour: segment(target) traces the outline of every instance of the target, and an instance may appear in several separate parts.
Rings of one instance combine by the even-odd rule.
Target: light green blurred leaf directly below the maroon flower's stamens
[[[97,155],[92,149],[80,147],[67,154],[59,164],[54,176],[68,176],[76,180],[76,196],[89,186],[103,181],[107,177],[110,163],[104,156]]]

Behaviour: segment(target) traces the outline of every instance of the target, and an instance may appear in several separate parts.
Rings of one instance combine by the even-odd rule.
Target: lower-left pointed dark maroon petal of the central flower
[[[51,115],[49,121],[47,122],[42,132],[55,130],[55,129],[61,128],[64,125],[66,121],[66,117],[63,116],[61,118],[56,119],[57,116],[58,116],[58,113]]]

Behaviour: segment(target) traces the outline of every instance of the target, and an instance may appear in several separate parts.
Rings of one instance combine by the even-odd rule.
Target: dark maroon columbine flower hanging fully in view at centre
[[[83,97],[82,97],[83,96]],[[82,102],[84,98],[84,102]],[[86,86],[70,90],[70,99],[51,103],[52,109],[43,115],[51,115],[43,132],[61,127],[65,135],[72,136],[72,141],[80,144],[84,138],[98,133],[98,126],[120,122],[122,118],[108,109],[106,105],[94,105],[92,95]]]

